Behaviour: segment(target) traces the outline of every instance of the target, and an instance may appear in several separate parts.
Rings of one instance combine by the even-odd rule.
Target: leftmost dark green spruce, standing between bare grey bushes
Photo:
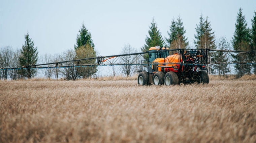
[[[21,57],[19,58],[19,63],[21,66],[35,65],[38,60],[37,47],[34,48],[34,41],[29,38],[29,34],[25,35],[25,44],[22,45]],[[22,70],[22,75],[31,78],[35,76],[36,70],[27,68],[27,70]]]

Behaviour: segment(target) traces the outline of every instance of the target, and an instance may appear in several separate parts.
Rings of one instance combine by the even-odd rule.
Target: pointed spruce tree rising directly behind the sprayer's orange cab
[[[146,52],[150,47],[160,46],[163,47],[164,40],[162,38],[161,32],[157,29],[154,18],[152,19],[151,26],[149,26],[149,37],[146,36],[146,44],[141,48],[142,52]]]

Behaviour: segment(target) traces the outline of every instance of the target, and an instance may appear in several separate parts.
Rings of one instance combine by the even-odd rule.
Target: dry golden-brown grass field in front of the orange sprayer
[[[1,81],[0,89],[1,143],[256,140],[256,80],[29,80]]]

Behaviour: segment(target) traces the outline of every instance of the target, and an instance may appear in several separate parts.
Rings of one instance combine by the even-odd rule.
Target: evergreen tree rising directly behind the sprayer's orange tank
[[[188,46],[188,38],[185,37],[186,30],[181,20],[180,16],[177,18],[177,21],[172,19],[170,32],[167,31],[169,39],[165,38],[165,40],[170,49],[183,49]]]

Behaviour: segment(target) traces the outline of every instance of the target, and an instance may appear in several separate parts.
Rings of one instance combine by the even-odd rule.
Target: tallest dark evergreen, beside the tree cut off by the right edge
[[[243,15],[242,8],[236,16],[235,32],[232,37],[232,46],[235,51],[251,51],[250,42],[250,29],[247,27],[247,22],[245,20],[245,15]],[[233,62],[244,62],[247,61],[249,57],[242,56],[242,54],[232,55],[234,58]],[[244,66],[242,64],[235,65],[237,72],[237,77],[242,77],[244,74],[251,74],[251,67]]]

